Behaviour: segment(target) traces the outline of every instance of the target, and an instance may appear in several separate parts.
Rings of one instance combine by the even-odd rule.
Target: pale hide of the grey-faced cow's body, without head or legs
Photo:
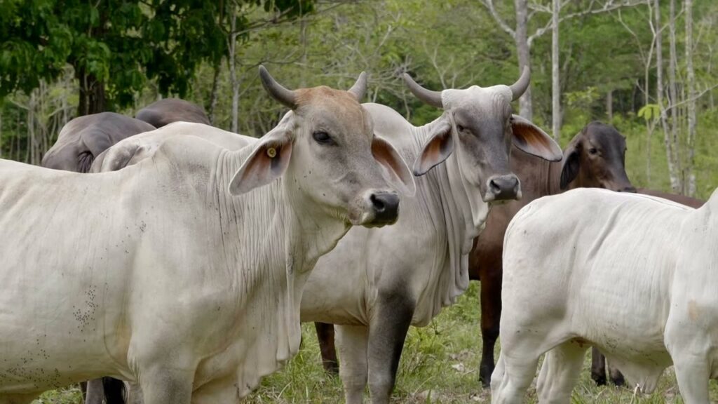
[[[434,127],[447,124],[448,113],[414,127],[387,106],[363,106],[374,132],[408,162],[421,154]],[[350,229],[320,258],[304,289],[302,321],[368,326],[378,290],[396,285],[409,285],[415,326],[426,326],[455,302],[469,285],[467,254],[489,211],[463,175],[459,153],[457,146],[445,162],[416,178],[416,196],[402,199],[395,225]]]

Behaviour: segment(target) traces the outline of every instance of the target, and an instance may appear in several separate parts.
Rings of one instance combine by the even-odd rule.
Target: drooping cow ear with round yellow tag
[[[229,183],[231,195],[242,195],[281,177],[292,157],[292,136],[284,125],[262,137]]]

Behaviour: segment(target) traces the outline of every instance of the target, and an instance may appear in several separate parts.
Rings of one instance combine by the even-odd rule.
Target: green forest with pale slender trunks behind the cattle
[[[513,83],[516,111],[562,146],[589,121],[628,138],[638,186],[707,198],[718,185],[711,0],[0,0],[0,156],[38,164],[60,128],[158,98],[261,136],[284,108],[257,65],[292,88],[348,88],[414,124],[440,111],[406,90]]]

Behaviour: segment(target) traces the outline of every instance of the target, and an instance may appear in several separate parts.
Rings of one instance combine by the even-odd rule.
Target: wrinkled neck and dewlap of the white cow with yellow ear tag
[[[304,283],[319,257],[348,231],[348,225],[338,219],[313,220],[310,216],[315,215],[302,209],[312,205],[289,185],[295,183],[291,164],[284,180],[231,196],[230,180],[253,149],[251,145],[223,152],[216,178],[225,262],[227,270],[235,272],[238,287],[243,288],[238,306],[242,311],[260,313],[243,313],[242,318],[255,323],[239,324],[240,328],[256,329],[251,336],[243,334],[243,338],[255,340],[243,341],[236,348],[244,359],[237,371],[238,385],[248,387],[243,393],[299,350]],[[243,300],[248,298],[251,301]],[[267,356],[269,352],[276,356]]]

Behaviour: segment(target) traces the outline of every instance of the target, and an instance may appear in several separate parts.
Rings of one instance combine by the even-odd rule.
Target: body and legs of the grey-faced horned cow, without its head
[[[425,150],[431,150],[424,146],[422,152],[422,145],[430,144],[452,119],[447,112],[424,127],[414,127],[386,106],[364,105],[375,123],[374,132],[390,139],[408,161],[421,160]],[[515,130],[517,137],[521,130]],[[452,136],[458,144],[463,134]],[[510,146],[504,139],[500,142]],[[489,204],[475,185],[480,172],[467,170],[461,160],[473,151],[455,147],[457,152],[416,180],[416,196],[404,200],[393,231],[349,231],[317,262],[307,281],[302,321],[337,324],[348,404],[363,401],[367,382],[372,402],[388,403],[409,326],[428,324],[468,286],[467,254],[483,228]],[[557,145],[551,147],[551,158],[560,156]],[[503,162],[507,157],[504,154]]]

